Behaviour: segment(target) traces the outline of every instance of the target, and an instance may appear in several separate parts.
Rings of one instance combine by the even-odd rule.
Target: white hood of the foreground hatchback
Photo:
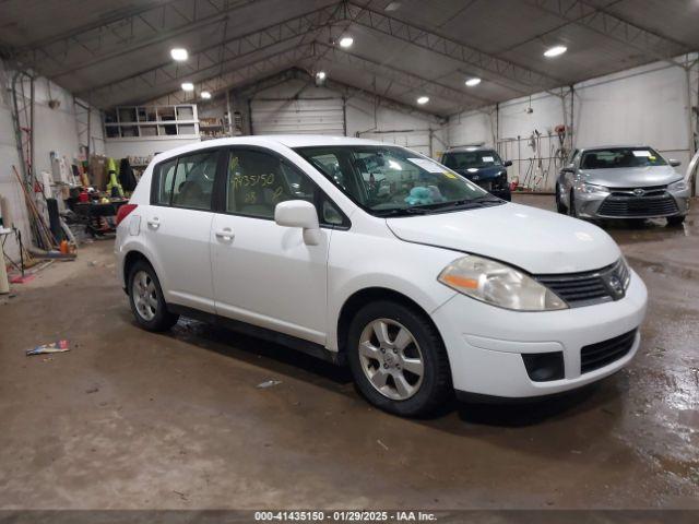
[[[402,240],[481,254],[535,274],[597,270],[620,257],[601,228],[520,204],[387,218],[387,224]]]

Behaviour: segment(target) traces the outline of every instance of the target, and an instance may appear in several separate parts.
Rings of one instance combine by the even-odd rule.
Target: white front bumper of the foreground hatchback
[[[640,344],[607,366],[581,372],[583,346],[636,330],[645,315],[648,293],[631,272],[625,298],[560,311],[520,312],[455,295],[433,312],[460,392],[508,398],[543,396],[577,389],[607,377],[629,362]],[[562,352],[565,376],[530,379],[522,354]]]

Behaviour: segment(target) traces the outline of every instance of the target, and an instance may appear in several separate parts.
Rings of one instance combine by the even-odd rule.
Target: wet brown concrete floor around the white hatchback
[[[345,371],[279,346],[139,330],[111,241],[85,247],[0,303],[0,508],[699,508],[694,209],[684,228],[608,228],[650,290],[630,367],[430,420],[372,409]],[[59,337],[70,353],[24,356]]]

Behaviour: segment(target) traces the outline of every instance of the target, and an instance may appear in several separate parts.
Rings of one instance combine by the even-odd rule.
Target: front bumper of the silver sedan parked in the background
[[[689,212],[689,189],[665,190],[644,196],[628,192],[576,191],[574,205],[580,218],[659,218],[686,215]]]

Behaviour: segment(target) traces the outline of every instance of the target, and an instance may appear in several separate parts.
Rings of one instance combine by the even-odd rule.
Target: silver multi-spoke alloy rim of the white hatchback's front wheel
[[[371,321],[362,332],[358,349],[364,374],[383,396],[405,401],[419,391],[425,360],[404,325],[391,319]]]

